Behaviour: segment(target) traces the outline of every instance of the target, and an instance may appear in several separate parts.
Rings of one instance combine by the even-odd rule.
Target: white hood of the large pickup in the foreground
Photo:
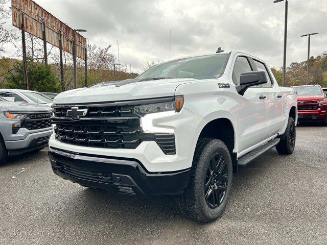
[[[54,104],[96,103],[174,96],[176,87],[196,79],[127,79],[58,94]]]

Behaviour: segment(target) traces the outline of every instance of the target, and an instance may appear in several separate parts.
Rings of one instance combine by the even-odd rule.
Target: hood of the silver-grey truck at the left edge
[[[21,102],[0,102],[0,108],[4,111],[24,113],[51,111],[50,106]]]

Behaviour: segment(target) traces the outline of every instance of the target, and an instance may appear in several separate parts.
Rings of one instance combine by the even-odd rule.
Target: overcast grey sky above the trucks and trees
[[[270,66],[283,64],[285,4],[273,0],[37,0],[82,33],[89,43],[112,44],[120,61],[137,70],[145,61],[225,51],[243,51]],[[327,0],[289,0],[287,65],[327,52]]]

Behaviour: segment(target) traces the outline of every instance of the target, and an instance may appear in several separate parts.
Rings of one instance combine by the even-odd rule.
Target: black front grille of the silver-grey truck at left
[[[51,127],[51,113],[28,114],[22,122],[21,128],[28,130]]]

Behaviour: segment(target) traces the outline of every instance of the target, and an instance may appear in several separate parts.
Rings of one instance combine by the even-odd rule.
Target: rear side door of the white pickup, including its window
[[[267,138],[269,138],[277,134],[283,125],[283,93],[274,82],[272,72],[265,63],[253,59],[253,64],[257,70],[265,71],[268,79],[268,83],[261,86],[265,90],[267,102]]]

